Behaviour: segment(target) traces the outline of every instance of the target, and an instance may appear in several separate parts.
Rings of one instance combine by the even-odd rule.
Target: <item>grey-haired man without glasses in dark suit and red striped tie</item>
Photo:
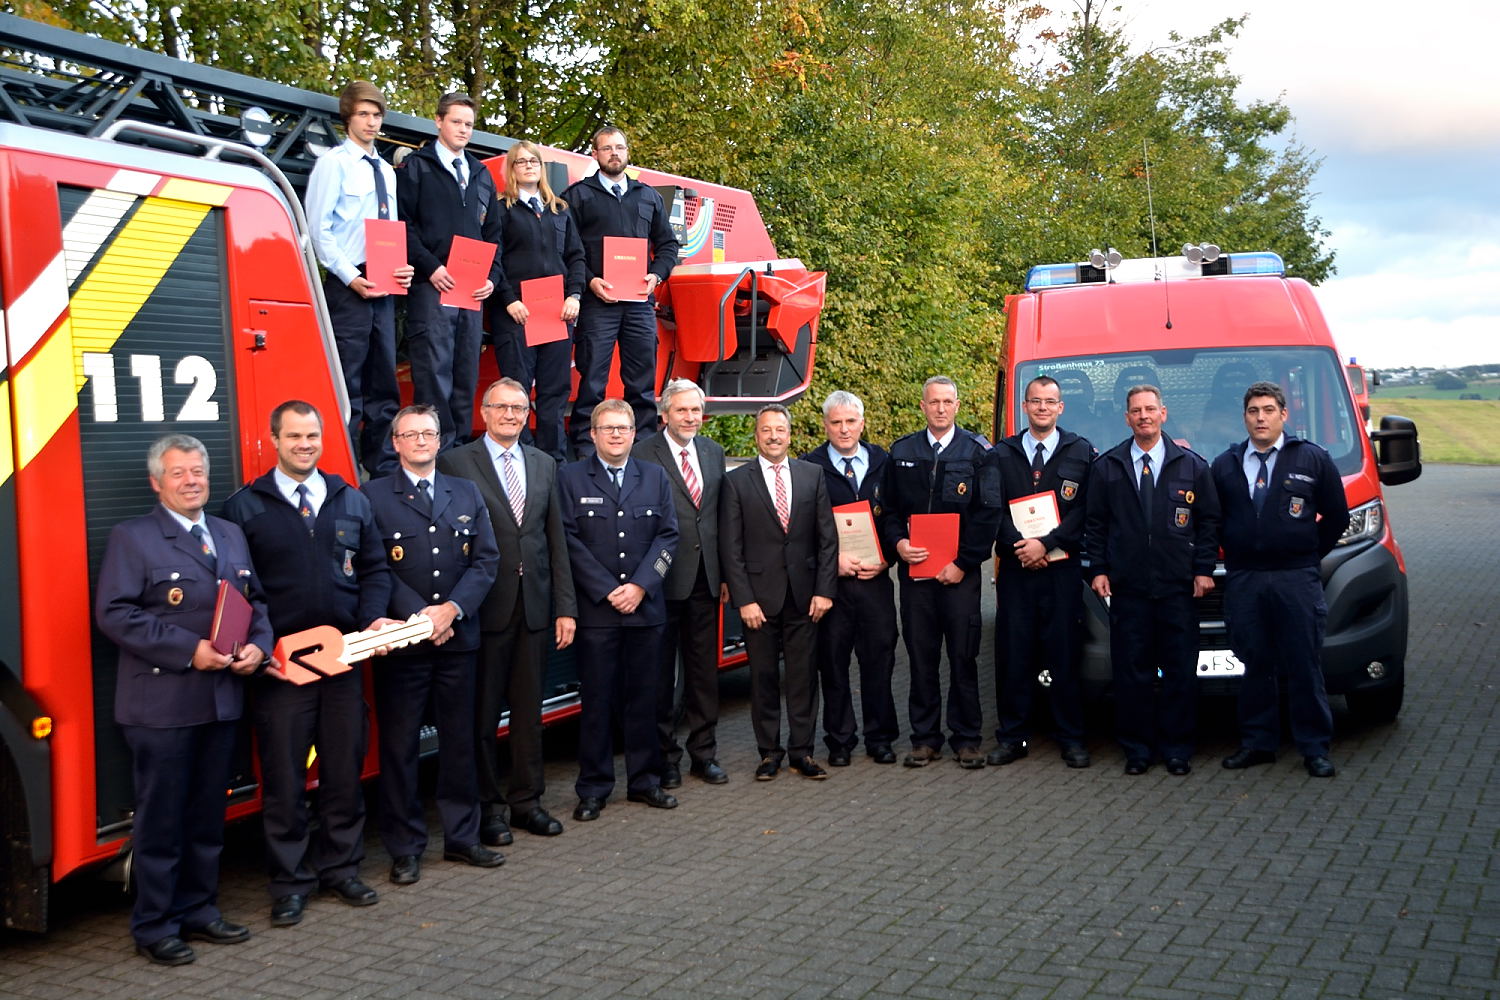
[[[638,441],[632,454],[666,469],[676,504],[676,559],[666,579],[666,631],[657,690],[657,735],[666,759],[662,787],[682,784],[682,747],[676,724],[676,661],[682,658],[682,718],[692,772],[708,784],[724,784],[718,766],[718,607],[728,595],[718,573],[718,489],[724,480],[724,450],[699,433],[704,390],[680,378],[662,390],[657,403],[664,433]]]

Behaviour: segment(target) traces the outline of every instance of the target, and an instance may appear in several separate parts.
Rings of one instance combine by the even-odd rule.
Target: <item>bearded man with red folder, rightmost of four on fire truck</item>
[[[630,148],[626,133],[606,126],[594,133],[594,160],[598,171],[562,192],[578,232],[584,240],[588,291],[579,306],[573,363],[578,367],[578,397],[573,400],[573,448],[579,456],[592,453],[585,433],[590,412],[604,397],[609,361],[620,345],[620,381],[626,402],[634,411],[640,438],[656,430],[656,300],[652,292],[676,267],[678,238],[668,220],[666,204],[656,187],[626,174]],[[604,280],[604,237],[646,240],[651,264],[646,268],[646,301],[621,301]]]

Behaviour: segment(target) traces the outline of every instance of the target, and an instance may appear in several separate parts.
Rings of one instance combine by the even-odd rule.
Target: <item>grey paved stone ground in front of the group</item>
[[[436,861],[380,906],[267,922],[255,825],[224,904],[255,937],[195,966],[134,957],[114,888],[60,894],[45,939],[0,936],[4,997],[1440,997],[1500,996],[1500,469],[1428,468],[1390,492],[1412,579],[1407,706],[1340,717],[1338,778],[1294,753],[1227,772],[1204,712],[1188,778],[1120,775],[1050,745],[1010,768],[856,757],[825,783],[750,780],[747,684],[724,678],[723,763],[681,808],[614,802],[498,871]],[[981,660],[990,661],[988,637]],[[898,669],[898,673],[902,669]],[[984,697],[993,726],[992,687]],[[573,768],[549,738],[548,807]]]

